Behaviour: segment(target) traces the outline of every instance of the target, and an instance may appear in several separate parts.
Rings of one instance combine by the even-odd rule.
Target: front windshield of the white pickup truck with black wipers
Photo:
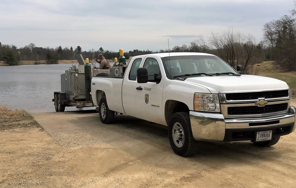
[[[171,56],[161,58],[168,78],[173,79],[178,75],[205,76],[207,74],[228,75],[217,73],[237,74],[237,72],[226,62],[216,56],[191,55]],[[205,74],[197,74],[205,73]]]

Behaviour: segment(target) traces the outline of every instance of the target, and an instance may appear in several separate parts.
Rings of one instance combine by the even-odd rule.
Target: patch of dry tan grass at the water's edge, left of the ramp
[[[40,127],[33,116],[25,110],[12,110],[7,106],[0,106],[0,131],[12,128]],[[43,128],[42,128],[43,129]]]

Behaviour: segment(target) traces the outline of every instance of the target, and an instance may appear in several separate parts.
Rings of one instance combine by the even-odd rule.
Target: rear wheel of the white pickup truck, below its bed
[[[99,103],[99,114],[102,123],[112,123],[114,119],[114,111],[109,110],[106,97],[102,97]]]

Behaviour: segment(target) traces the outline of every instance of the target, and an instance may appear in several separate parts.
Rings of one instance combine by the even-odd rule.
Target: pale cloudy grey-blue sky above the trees
[[[0,42],[17,48],[159,51],[229,28],[263,38],[263,25],[291,15],[294,0],[0,0]]]

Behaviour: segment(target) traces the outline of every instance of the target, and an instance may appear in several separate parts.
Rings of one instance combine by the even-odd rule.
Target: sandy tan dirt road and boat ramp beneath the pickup
[[[166,127],[127,115],[32,115],[45,131],[0,132],[0,187],[296,187],[296,132],[267,148],[200,142],[182,158]]]

